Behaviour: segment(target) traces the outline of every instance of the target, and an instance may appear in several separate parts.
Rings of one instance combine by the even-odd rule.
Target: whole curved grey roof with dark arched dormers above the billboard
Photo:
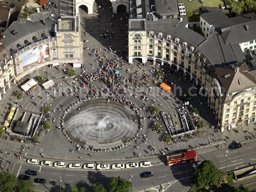
[[[3,32],[5,38],[0,41],[11,54],[32,42],[54,36],[55,25],[52,20],[45,18],[43,12],[32,15],[37,19],[15,21]]]

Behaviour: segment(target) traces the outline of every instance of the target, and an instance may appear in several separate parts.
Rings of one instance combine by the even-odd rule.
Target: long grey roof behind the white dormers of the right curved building
[[[167,33],[172,36],[179,37],[194,47],[197,47],[205,40],[205,38],[195,31],[185,27],[187,23],[188,22],[186,19],[183,19],[183,22],[179,22],[179,19],[170,19],[170,21],[166,23],[147,23],[146,28],[147,31],[159,31],[165,34]],[[166,37],[163,38],[166,39]]]

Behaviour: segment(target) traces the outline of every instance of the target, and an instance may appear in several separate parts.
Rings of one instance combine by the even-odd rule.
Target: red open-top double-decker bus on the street
[[[183,153],[175,153],[167,155],[167,166],[177,165],[196,161],[196,151],[186,151]]]

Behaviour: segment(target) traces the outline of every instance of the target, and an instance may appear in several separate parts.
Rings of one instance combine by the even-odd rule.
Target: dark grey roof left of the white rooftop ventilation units
[[[178,15],[177,0],[154,0],[155,11],[158,15]]]

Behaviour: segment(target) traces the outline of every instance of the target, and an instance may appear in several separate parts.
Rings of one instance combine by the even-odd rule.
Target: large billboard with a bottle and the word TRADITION
[[[49,44],[39,45],[22,54],[23,69],[50,59]]]

